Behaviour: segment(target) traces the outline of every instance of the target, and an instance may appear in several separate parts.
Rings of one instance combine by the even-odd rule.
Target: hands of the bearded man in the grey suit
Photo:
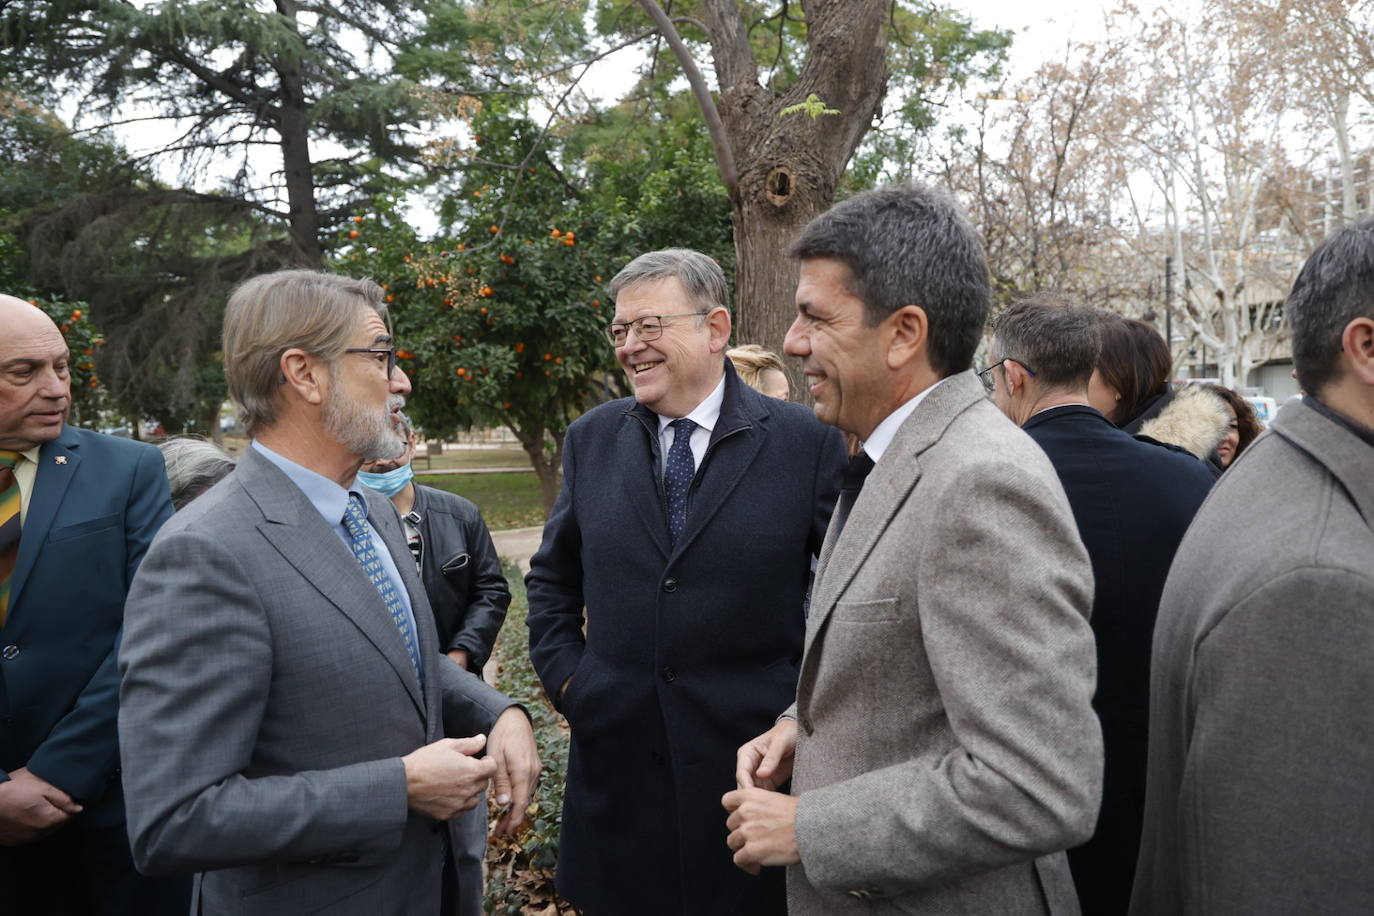
[[[484,747],[486,757],[477,757]],[[517,706],[496,718],[491,735],[444,737],[411,751],[401,764],[411,809],[436,820],[477,808],[478,795],[491,781],[492,801],[506,808],[496,821],[497,834],[513,834],[525,821],[539,781],[534,731]]]

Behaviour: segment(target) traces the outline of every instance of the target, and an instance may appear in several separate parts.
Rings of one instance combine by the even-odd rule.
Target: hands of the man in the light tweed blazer
[[[797,750],[797,720],[776,725],[735,754],[735,791],[720,803],[730,816],[725,843],[735,853],[735,865],[757,875],[764,865],[796,865],[797,799],[778,791],[791,779]]]

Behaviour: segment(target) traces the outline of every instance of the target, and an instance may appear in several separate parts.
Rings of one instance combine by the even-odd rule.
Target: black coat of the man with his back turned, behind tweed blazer
[[[1191,455],[1136,439],[1090,407],[1059,407],[1022,427],[1063,483],[1092,560],[1092,632],[1106,772],[1102,814],[1069,850],[1084,916],[1125,913],[1145,808],[1150,643],[1173,552],[1213,477]]]

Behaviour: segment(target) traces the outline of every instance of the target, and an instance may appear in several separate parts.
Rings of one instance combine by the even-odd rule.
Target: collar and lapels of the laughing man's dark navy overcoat
[[[697,468],[688,497],[687,527],[683,529],[676,545],[668,537],[668,514],[664,509],[662,479],[658,470],[658,415],[643,404],[632,402],[625,409],[625,417],[632,417],[624,427],[627,435],[639,439],[642,428],[649,438],[647,448],[625,449],[627,455],[640,456],[631,474],[638,474],[643,481],[642,486],[627,489],[650,537],[668,559],[676,558],[691,545],[734,492],[767,437],[769,398],[741,382],[730,360],[724,360],[724,364],[725,397],[720,405],[720,419],[710,431],[706,455]]]

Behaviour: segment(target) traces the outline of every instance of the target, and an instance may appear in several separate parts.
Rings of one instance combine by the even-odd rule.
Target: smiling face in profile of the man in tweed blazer
[[[868,327],[863,301],[849,291],[849,268],[834,258],[801,262],[797,319],[783,350],[801,357],[816,419],[860,439],[890,412],[881,328]]]

